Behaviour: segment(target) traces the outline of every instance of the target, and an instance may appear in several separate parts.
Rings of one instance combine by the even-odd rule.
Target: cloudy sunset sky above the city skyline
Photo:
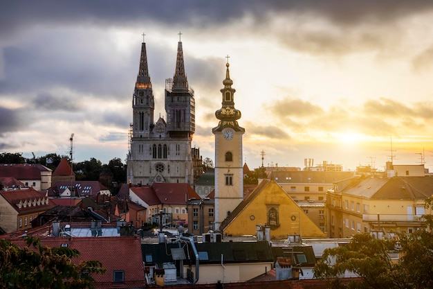
[[[181,32],[203,158],[229,55],[250,169],[433,170],[432,22],[426,0],[3,1],[0,153],[69,155],[74,134],[75,162],[125,162],[142,34],[157,119]]]

